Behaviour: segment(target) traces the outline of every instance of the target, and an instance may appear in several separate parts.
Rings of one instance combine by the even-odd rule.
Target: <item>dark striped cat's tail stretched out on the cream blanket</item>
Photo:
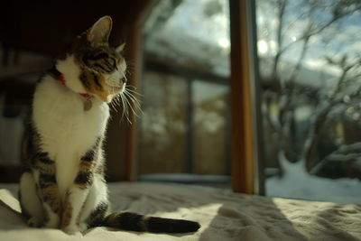
[[[190,233],[196,232],[200,225],[197,222],[143,216],[132,212],[114,212],[106,216],[106,227],[114,227],[128,231],[150,233]]]

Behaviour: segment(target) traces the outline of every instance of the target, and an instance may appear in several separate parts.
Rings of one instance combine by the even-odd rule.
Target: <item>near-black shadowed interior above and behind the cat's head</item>
[[[112,44],[126,38],[127,26],[147,1],[4,1],[0,10],[0,42],[10,48],[37,51],[55,57],[72,38],[103,15],[113,18]]]

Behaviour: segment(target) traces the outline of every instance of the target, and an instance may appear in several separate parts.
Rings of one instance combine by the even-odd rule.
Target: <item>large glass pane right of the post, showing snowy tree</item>
[[[269,196],[361,203],[360,8],[256,1]]]

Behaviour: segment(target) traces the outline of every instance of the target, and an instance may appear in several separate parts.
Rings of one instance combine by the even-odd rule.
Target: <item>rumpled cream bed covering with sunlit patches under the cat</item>
[[[16,184],[2,184],[0,188],[0,240],[361,240],[358,205],[146,182],[110,183],[112,209],[196,220],[201,224],[199,231],[167,235],[96,227],[69,236],[57,229],[26,227],[14,198]]]

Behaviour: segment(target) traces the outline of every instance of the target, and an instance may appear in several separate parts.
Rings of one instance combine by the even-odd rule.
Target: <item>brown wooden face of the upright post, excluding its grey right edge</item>
[[[230,0],[231,19],[231,114],[232,114],[232,188],[253,194],[254,119],[250,84],[250,60],[246,0]]]

